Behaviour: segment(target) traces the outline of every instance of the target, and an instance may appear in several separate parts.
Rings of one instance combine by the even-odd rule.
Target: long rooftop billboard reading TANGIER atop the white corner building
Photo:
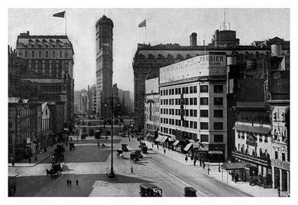
[[[226,55],[202,55],[159,69],[160,84],[203,76],[225,76]]]

